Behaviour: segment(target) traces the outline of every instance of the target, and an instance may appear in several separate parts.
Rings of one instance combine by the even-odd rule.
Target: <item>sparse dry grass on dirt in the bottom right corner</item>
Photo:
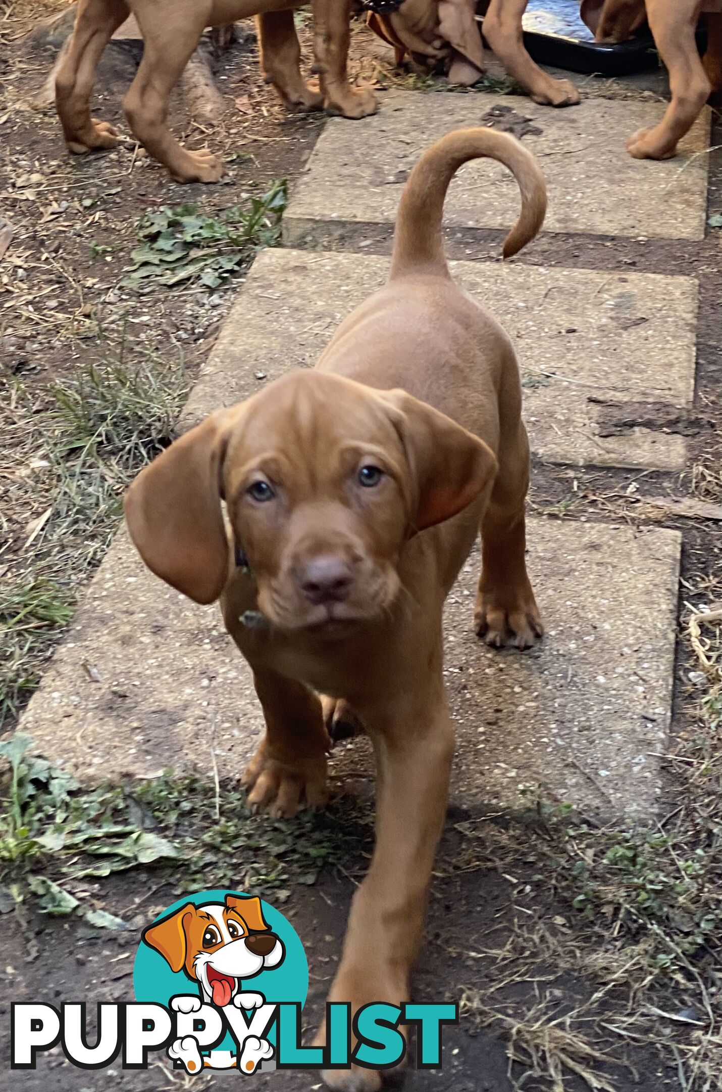
[[[574,1073],[615,1087],[607,1064],[645,1048],[675,1068],[681,1092],[713,1092],[722,1073],[722,619],[705,578],[685,605],[685,726],[667,762],[675,806],[645,828],[600,827],[558,802],[457,824],[446,875],[498,869],[515,913],[477,940],[485,988],[462,1012],[507,1041],[525,1067],[561,1092]],[[715,620],[717,619],[717,620]],[[533,983],[530,1005],[525,984]],[[583,995],[576,1004],[570,1000]],[[574,1006],[574,1007],[573,1007]]]

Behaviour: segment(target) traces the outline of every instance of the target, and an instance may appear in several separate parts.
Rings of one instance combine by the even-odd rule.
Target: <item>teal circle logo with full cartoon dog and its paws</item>
[[[136,1001],[163,1005],[182,1022],[184,1034],[168,1046],[176,1068],[194,1073],[239,1066],[251,1073],[275,1068],[276,1029],[246,1036],[239,1059],[227,1025],[255,1021],[260,1030],[267,1007],[286,1001],[302,1008],[309,964],[293,926],[257,895],[198,891],[143,930],[133,989]],[[216,1028],[224,1034],[216,1036]]]

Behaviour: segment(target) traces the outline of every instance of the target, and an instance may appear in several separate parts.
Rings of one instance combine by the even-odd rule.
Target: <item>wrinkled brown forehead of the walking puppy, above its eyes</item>
[[[244,404],[226,451],[228,496],[252,467],[270,462],[277,473],[321,479],[333,473],[339,452],[383,450],[394,462],[404,458],[395,412],[380,392],[321,371],[292,372]]]

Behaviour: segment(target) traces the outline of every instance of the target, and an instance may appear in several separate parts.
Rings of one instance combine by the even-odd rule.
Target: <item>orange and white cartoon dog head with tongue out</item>
[[[232,894],[222,903],[186,903],[144,929],[143,940],[171,971],[183,971],[197,983],[202,999],[219,1009],[231,1004],[243,982],[279,966],[286,956],[282,940],[263,916],[261,900]]]

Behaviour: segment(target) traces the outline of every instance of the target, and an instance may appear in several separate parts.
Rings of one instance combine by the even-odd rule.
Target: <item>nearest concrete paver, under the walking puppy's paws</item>
[[[679,536],[532,520],[529,554],[547,637],[529,654],[473,636],[478,554],[446,612],[446,677],[459,731],[453,798],[524,804],[520,790],[605,817],[649,814],[670,724]],[[97,681],[99,679],[99,681]],[[22,721],[84,781],[164,769],[242,772],[263,727],[250,670],[217,607],[153,577],[124,533]],[[352,740],[333,771],[371,774]]]

